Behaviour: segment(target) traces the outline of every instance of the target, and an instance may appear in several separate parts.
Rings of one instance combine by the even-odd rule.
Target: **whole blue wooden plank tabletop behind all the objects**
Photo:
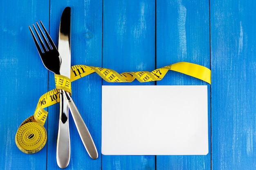
[[[56,164],[59,105],[50,106],[47,144],[26,155],[15,144],[18,126],[41,95],[55,88],[28,25],[42,20],[54,42],[63,9],[71,7],[72,65],[152,71],[175,62],[211,69],[209,85],[169,71],[138,85],[207,85],[209,154],[206,156],[101,155],[101,86],[97,74],[72,83],[72,96],[95,141],[90,159],[70,118],[67,170],[255,170],[256,2],[254,0],[2,0],[0,2],[0,169],[52,170]],[[115,84],[117,85],[117,84]],[[168,134],[166,134],[168,135]]]

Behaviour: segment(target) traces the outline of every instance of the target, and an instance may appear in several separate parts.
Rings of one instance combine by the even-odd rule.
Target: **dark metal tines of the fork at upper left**
[[[47,36],[47,38],[48,38],[48,40],[49,40],[49,43],[48,43],[48,40],[45,38],[45,35],[44,35],[43,31],[41,30],[40,26],[38,25],[38,23],[36,22],[36,25],[37,25],[37,27],[38,27],[38,29],[39,29],[39,31],[40,31],[42,37],[43,37],[43,40],[44,40],[45,44],[43,43],[43,41],[42,41],[42,39],[41,39],[41,37],[40,37],[38,31],[36,30],[36,27],[34,26],[34,24],[32,24],[32,25],[33,25],[33,27],[34,27],[34,30],[36,31],[36,35],[37,35],[38,40],[39,40],[39,42],[40,42],[40,44],[41,44],[41,46],[42,46],[42,48],[43,48],[43,51],[41,50],[40,45],[38,44],[38,41],[36,40],[36,36],[34,35],[34,33],[33,33],[32,29],[31,29],[31,27],[29,26],[29,29],[30,29],[31,35],[32,35],[32,37],[33,37],[33,39],[34,39],[34,42],[35,42],[35,44],[36,44],[36,48],[37,48],[38,53],[39,53],[39,54],[45,53],[46,51],[49,51],[49,50],[51,50],[51,49],[56,49],[56,50],[57,50],[57,48],[56,48],[54,42],[52,41],[52,38],[50,37],[49,33],[48,33],[47,30],[45,29],[45,26],[43,25],[42,21],[40,21],[40,24],[41,24],[42,27],[43,27],[43,30],[44,30],[44,32],[45,32],[45,35]],[[46,45],[47,48],[45,47],[45,45]],[[50,45],[51,45],[51,46],[50,46]]]

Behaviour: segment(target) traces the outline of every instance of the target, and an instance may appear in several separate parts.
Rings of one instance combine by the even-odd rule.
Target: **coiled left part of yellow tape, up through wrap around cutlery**
[[[48,91],[40,97],[34,115],[23,121],[16,132],[15,143],[26,154],[36,153],[46,144],[47,132],[44,124],[48,112],[44,108],[60,101],[59,89],[63,89],[71,95],[71,82],[68,77],[55,75],[55,85],[55,89]]]

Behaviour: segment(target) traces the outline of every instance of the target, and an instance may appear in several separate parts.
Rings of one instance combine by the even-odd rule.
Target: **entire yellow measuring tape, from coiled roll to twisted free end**
[[[47,133],[44,124],[48,112],[44,108],[60,102],[59,89],[63,89],[71,95],[71,82],[77,79],[96,72],[106,82],[132,82],[135,79],[139,82],[151,82],[161,80],[169,70],[190,75],[211,84],[211,70],[204,66],[189,62],[177,62],[169,66],[155,69],[151,72],[137,71],[124,72],[121,74],[108,68],[85,65],[72,66],[70,79],[63,75],[55,75],[56,88],[43,94],[38,100],[34,115],[22,122],[16,132],[16,145],[22,152],[27,154],[36,153],[45,146]]]

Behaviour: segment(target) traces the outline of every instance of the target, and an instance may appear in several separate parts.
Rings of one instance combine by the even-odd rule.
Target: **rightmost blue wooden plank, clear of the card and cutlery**
[[[254,170],[256,3],[210,2],[213,170]]]

